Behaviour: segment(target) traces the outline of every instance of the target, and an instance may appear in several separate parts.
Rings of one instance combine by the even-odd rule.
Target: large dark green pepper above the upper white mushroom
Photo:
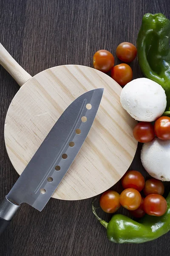
[[[139,65],[148,79],[156,81],[165,90],[167,110],[170,107],[170,20],[163,14],[147,13],[142,18],[142,26],[136,47]],[[170,114],[170,112],[168,111]]]

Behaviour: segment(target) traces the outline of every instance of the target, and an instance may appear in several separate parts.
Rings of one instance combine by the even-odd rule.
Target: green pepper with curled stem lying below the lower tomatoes
[[[107,229],[108,239],[115,243],[144,243],[159,238],[170,230],[170,193],[166,198],[167,211],[160,217],[145,215],[140,222],[122,214],[115,214],[107,223],[96,214],[96,218]]]

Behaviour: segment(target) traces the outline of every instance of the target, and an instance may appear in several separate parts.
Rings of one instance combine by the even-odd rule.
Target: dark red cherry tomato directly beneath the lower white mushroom
[[[161,182],[161,180],[156,179],[150,179],[145,182],[144,185],[144,195],[150,195],[150,194],[164,194],[164,184]]]

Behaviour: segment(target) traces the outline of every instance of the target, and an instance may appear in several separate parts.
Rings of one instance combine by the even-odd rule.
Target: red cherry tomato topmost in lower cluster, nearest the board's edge
[[[122,186],[124,189],[132,188],[140,192],[144,188],[144,177],[140,172],[127,171],[122,177]]]

